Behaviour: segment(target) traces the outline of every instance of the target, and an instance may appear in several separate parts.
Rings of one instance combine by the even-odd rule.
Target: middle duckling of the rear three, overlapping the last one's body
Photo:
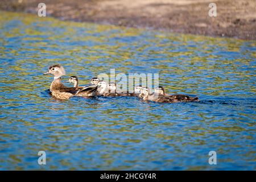
[[[141,97],[144,101],[165,102],[165,103],[178,102],[173,98],[166,97],[161,94],[159,94],[158,96],[156,96],[156,94],[150,94],[149,89],[147,87],[143,87],[141,89],[141,93],[139,94],[139,97]]]

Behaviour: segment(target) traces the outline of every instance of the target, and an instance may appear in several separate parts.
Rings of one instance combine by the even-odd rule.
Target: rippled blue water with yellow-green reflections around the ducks
[[[256,42],[0,13],[0,169],[256,169]],[[53,63],[81,84],[110,68],[159,73],[200,102],[57,101],[42,75]]]

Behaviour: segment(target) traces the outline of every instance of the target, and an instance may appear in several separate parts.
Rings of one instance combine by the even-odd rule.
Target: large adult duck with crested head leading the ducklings
[[[50,92],[53,97],[60,99],[60,100],[67,100],[70,97],[73,96],[79,96],[79,93],[86,93],[90,94],[93,90],[97,89],[97,86],[85,86],[82,89],[77,90],[75,87],[66,87],[61,82],[61,77],[65,75],[65,69],[60,64],[53,64],[49,67],[48,71],[46,73],[43,73],[43,75],[53,75],[54,80],[51,83],[50,86]]]

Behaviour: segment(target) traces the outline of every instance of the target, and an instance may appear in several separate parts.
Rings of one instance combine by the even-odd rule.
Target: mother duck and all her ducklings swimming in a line
[[[61,77],[65,75],[65,69],[60,64],[51,65],[48,71],[43,75],[49,74],[54,76],[54,80],[52,81],[49,90],[53,97],[60,100],[67,100],[73,96],[134,96],[142,98],[144,101],[154,102],[175,103],[199,101],[198,97],[192,98],[183,94],[166,94],[162,86],[155,88],[154,93],[150,93],[148,88],[142,86],[135,86],[133,93],[117,92],[117,86],[115,83],[110,82],[107,84],[105,81],[101,81],[97,77],[92,78],[90,80],[90,84],[79,86],[79,78],[77,76],[71,76],[69,77],[68,82],[71,82],[74,85],[73,87],[67,87],[61,82]]]

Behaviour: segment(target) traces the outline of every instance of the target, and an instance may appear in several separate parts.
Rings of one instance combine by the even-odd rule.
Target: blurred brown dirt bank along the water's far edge
[[[37,14],[40,2],[61,20],[256,40],[255,0],[1,0],[0,10]]]

